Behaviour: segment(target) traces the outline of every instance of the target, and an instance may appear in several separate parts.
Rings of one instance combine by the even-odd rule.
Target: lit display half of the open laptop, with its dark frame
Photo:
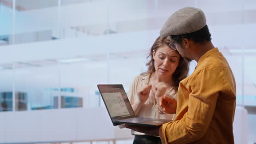
[[[98,89],[112,121],[135,117],[123,85],[98,85]]]

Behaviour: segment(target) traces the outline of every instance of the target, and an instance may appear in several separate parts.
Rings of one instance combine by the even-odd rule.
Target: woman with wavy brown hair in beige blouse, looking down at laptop
[[[128,96],[138,117],[174,119],[174,114],[166,114],[159,106],[160,99],[164,95],[170,100],[176,99],[179,82],[187,76],[189,67],[188,62],[169,45],[170,40],[158,37],[150,49],[148,71],[133,80]],[[176,113],[176,109],[168,113]],[[131,133],[135,135],[133,143],[161,143],[159,137],[133,130]]]

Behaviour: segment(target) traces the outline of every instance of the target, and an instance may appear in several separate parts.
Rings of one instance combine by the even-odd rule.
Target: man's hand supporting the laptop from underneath
[[[132,129],[147,135],[159,136],[159,127],[146,127],[146,126],[138,126],[138,125],[127,125],[123,124],[125,128]]]

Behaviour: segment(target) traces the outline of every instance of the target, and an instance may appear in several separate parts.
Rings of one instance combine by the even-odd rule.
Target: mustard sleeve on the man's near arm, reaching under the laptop
[[[177,117],[184,114],[183,117],[160,127],[159,135],[163,143],[190,143],[199,140],[210,125],[219,92],[222,91],[222,81],[212,70],[204,68],[193,75],[188,83],[187,86],[182,83],[179,86],[189,91],[188,101],[179,102],[178,98],[178,103],[187,103],[184,104],[188,105],[187,110],[183,104],[179,104],[181,107],[177,109],[184,111],[177,113]]]

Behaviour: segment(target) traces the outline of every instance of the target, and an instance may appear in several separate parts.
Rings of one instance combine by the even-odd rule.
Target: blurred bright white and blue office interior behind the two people
[[[235,75],[235,143],[256,143],[254,0],[1,0],[0,143],[131,143],[96,85],[128,92],[167,18],[188,6],[205,12]]]

